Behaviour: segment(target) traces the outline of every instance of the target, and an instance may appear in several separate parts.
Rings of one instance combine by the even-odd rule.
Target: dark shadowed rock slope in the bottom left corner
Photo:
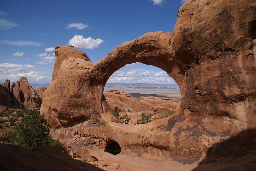
[[[0,170],[101,171],[83,161],[72,159],[51,146],[39,146],[33,152],[18,146],[0,143]],[[3,155],[4,154],[4,155]],[[103,171],[103,170],[102,170]]]

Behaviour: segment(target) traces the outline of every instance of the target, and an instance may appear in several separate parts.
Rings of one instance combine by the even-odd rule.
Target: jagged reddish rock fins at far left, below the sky
[[[29,107],[40,107],[42,98],[28,83],[26,77],[12,83],[8,79],[0,86],[0,105],[27,105]]]

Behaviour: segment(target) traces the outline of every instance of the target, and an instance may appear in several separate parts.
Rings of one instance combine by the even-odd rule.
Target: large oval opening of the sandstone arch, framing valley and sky
[[[131,126],[172,115],[181,97],[178,84],[164,70],[140,62],[114,72],[103,92],[110,112]]]

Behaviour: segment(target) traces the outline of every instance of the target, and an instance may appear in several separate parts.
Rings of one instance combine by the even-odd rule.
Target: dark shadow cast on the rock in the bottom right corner
[[[210,147],[192,171],[203,170],[256,170],[256,129],[244,130]]]

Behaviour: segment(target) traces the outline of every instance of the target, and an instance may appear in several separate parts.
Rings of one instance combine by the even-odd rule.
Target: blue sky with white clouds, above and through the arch
[[[173,32],[184,0],[0,0],[0,81],[50,83],[53,47],[72,44],[92,62],[147,32]],[[132,73],[132,74],[131,74]],[[108,82],[174,83],[161,69],[124,66]]]

